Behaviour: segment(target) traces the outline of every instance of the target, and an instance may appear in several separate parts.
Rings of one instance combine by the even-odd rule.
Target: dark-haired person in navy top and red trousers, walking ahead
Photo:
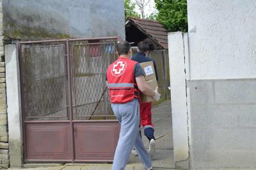
[[[146,39],[143,42],[138,43],[138,52],[131,59],[133,61],[137,61],[138,63],[153,61],[154,70],[156,72],[156,80],[158,81],[156,62],[153,59],[148,58],[148,54],[152,52],[154,49],[155,49],[154,43],[150,39]],[[151,108],[152,108],[151,102],[140,103],[141,125],[144,128],[145,136],[148,138],[148,142],[149,142],[148,152],[150,153],[150,157],[154,158],[154,153],[156,148],[155,147],[156,139],[154,137],[154,125],[152,123]],[[134,153],[134,155],[137,155],[136,151],[132,151],[132,153]]]

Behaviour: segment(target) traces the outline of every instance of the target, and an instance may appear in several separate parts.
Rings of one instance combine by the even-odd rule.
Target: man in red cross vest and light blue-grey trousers
[[[132,148],[136,148],[143,166],[152,169],[150,156],[140,136],[140,93],[154,100],[159,100],[159,93],[148,87],[140,64],[130,59],[131,45],[119,42],[117,51],[119,58],[108,66],[106,73],[109,100],[121,127],[112,169],[124,170]]]

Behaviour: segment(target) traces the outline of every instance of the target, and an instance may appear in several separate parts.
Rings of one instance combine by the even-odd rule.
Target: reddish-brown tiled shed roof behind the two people
[[[156,20],[137,19],[134,17],[127,18],[126,24],[129,23],[136,26],[161,47],[168,49],[168,31],[164,28],[163,24]]]

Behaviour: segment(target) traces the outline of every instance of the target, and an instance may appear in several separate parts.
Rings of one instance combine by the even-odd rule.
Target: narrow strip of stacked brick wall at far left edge
[[[0,167],[8,168],[9,144],[8,144],[8,124],[6,105],[6,83],[5,83],[5,63],[4,63],[4,40],[3,40],[3,5],[0,0]]]

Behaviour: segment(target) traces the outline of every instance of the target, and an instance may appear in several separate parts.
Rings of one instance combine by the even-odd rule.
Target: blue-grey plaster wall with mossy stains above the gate
[[[3,0],[6,38],[125,39],[124,1]]]

